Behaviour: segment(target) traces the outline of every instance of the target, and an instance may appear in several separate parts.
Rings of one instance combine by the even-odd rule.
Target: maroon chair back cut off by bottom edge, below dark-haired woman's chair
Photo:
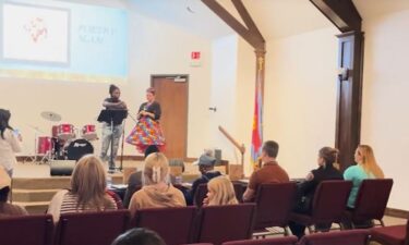
[[[303,236],[299,245],[366,245],[369,234],[368,230],[314,233]]]

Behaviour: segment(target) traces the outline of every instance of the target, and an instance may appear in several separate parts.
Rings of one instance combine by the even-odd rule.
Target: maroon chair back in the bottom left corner
[[[51,215],[8,216],[0,218],[1,245],[50,245]]]

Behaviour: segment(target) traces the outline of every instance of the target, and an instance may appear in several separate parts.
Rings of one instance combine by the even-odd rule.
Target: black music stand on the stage
[[[113,125],[119,125],[122,124],[122,121],[128,117],[128,110],[110,110],[110,109],[105,109],[99,112],[98,115],[98,122],[106,122],[110,125],[111,127],[111,154],[110,154],[110,162],[113,161]],[[104,139],[103,139],[104,140]],[[119,168],[120,171],[122,171],[122,162]],[[115,167],[113,169],[109,168],[109,172],[113,173],[115,172]]]

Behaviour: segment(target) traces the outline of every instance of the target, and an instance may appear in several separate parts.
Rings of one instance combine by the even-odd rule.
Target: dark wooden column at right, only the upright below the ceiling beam
[[[338,35],[337,121],[335,147],[340,151],[339,163],[345,170],[353,163],[353,154],[360,144],[363,33]]]

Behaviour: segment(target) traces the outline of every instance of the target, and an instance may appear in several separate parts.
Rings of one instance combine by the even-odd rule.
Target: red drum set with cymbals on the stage
[[[41,162],[79,160],[82,156],[94,152],[92,142],[98,139],[94,124],[86,124],[79,130],[70,123],[52,125],[61,121],[58,113],[44,111],[40,115],[51,122],[51,135],[36,137],[36,156],[41,157]]]

